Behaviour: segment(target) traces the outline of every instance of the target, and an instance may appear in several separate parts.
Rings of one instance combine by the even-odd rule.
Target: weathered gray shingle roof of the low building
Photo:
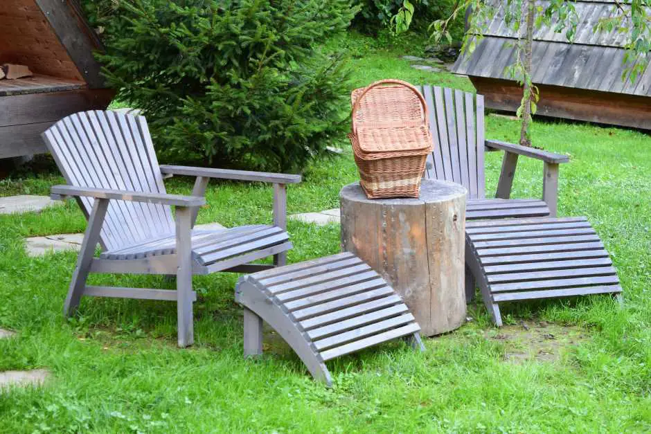
[[[501,3],[501,2],[500,2]],[[549,1],[539,1],[546,7]],[[628,7],[628,6],[624,6]],[[614,0],[576,1],[579,23],[573,43],[567,41],[565,29],[555,33],[553,26],[535,30],[533,43],[533,82],[611,93],[651,96],[651,67],[635,82],[622,80],[630,64],[624,64],[628,32],[598,33],[594,26],[602,18],[621,14]],[[512,80],[506,67],[515,61],[516,33],[504,24],[504,10],[499,6],[488,24],[485,37],[472,54],[459,57],[454,72],[484,78]]]

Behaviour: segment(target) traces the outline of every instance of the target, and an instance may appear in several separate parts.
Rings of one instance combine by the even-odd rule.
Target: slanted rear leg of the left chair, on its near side
[[[93,255],[95,254],[95,246],[100,239],[100,230],[109,206],[107,199],[95,199],[93,210],[88,219],[86,232],[84,233],[84,242],[82,243],[79,255],[77,257],[77,265],[73,271],[72,280],[64,302],[64,315],[72,315],[81,299],[84,287],[86,286],[86,279],[90,269]]]

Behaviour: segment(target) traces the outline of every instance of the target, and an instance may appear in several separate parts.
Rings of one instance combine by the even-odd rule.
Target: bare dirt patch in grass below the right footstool
[[[504,343],[504,361],[509,363],[558,361],[572,347],[589,339],[585,329],[545,321],[521,321],[487,331],[485,336]]]

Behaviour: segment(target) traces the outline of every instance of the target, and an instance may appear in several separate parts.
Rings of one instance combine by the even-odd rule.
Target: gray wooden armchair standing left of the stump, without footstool
[[[75,197],[88,218],[66,315],[82,296],[175,301],[179,346],[185,347],[193,343],[193,275],[269,269],[250,262],[271,255],[275,265],[285,264],[285,252],[292,248],[285,231],[285,186],[300,182],[299,175],[159,165],[145,118],[114,111],[73,114],[43,138],[69,184],[54,186],[52,197]],[[192,195],[166,192],[163,177],[174,174],[197,177]],[[273,183],[274,224],[193,230],[211,178]],[[89,286],[89,273],[176,275],[177,289]]]

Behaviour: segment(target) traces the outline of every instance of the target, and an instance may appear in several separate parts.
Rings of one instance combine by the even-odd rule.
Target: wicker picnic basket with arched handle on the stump
[[[407,82],[380,80],[353,91],[351,103],[348,137],[366,197],[418,197],[432,150],[425,98]]]

